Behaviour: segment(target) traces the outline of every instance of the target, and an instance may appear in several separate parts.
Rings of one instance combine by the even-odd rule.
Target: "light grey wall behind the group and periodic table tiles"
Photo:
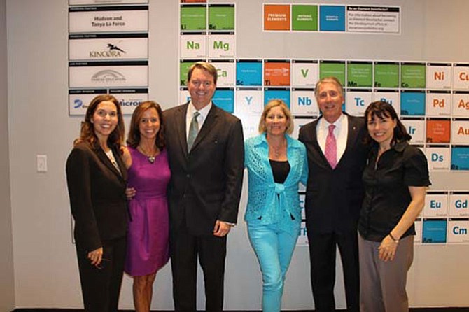
[[[469,2],[464,0],[333,1],[401,6],[400,36],[263,33],[263,1],[231,2],[237,3],[237,57],[468,61],[465,14],[469,12]],[[321,3],[325,2],[328,1]],[[18,307],[82,306],[64,173],[66,157],[73,139],[78,136],[81,120],[69,117],[67,108],[67,9],[68,1],[64,0],[6,0],[10,194],[15,305]],[[178,12],[179,1],[150,1],[150,97],[165,108],[178,101]],[[3,37],[0,32],[0,38]],[[6,92],[2,89],[5,83],[1,66],[5,57],[2,53],[0,45],[0,101],[4,103]],[[0,110],[0,116],[5,116],[6,107],[0,106]],[[4,119],[0,127],[6,124]],[[3,132],[2,128],[0,133],[6,133],[6,129]],[[1,139],[0,143],[8,146],[6,139]],[[47,173],[36,172],[37,154],[48,155]],[[8,158],[2,155],[0,165],[8,163]],[[5,171],[8,173],[8,169]],[[457,179],[440,173],[433,175],[432,180],[436,188],[456,190],[467,189],[469,185],[468,173],[461,173]],[[8,185],[0,184],[2,200],[3,192],[8,195]],[[245,201],[244,196],[239,226],[228,239],[225,309],[260,309],[260,272],[242,221]],[[3,231],[8,229],[9,205],[0,205],[7,207],[6,215],[3,211],[0,215]],[[6,220],[5,226],[3,220]],[[2,246],[5,243],[8,248],[8,231],[6,240],[3,235],[0,237]],[[469,277],[465,259],[468,251],[469,246],[418,246],[409,274],[411,305],[469,306],[469,297],[463,291],[464,281]],[[8,255],[6,263],[7,267],[11,264]],[[337,266],[340,267],[340,263]],[[3,270],[3,265],[0,267]],[[3,271],[0,272],[3,276]],[[6,269],[6,273],[11,280],[10,270]],[[201,282],[199,286],[199,308],[203,309]],[[344,307],[342,274],[337,275],[336,293],[338,306]],[[153,300],[153,309],[173,307],[169,265],[158,273]],[[11,302],[11,299],[6,301]],[[312,307],[307,248],[295,250],[283,302],[284,309]],[[120,303],[122,309],[132,309],[130,278],[125,278]]]

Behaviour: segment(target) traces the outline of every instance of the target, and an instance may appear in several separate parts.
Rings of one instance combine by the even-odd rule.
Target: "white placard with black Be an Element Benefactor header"
[[[400,8],[388,6],[347,6],[348,32],[400,34]]]

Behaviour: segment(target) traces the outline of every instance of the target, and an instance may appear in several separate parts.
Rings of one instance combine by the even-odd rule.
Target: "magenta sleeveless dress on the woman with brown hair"
[[[166,189],[171,177],[166,149],[148,157],[128,147],[132,166],[128,186],[137,190],[129,201],[132,220],[127,234],[125,272],[132,276],[155,273],[169,260],[169,213]]]

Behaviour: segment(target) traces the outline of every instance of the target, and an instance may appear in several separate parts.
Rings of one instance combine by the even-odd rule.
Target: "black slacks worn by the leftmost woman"
[[[126,237],[102,241],[103,260],[98,267],[92,266],[85,250],[76,243],[81,292],[85,311],[118,311],[120,286],[124,274]]]

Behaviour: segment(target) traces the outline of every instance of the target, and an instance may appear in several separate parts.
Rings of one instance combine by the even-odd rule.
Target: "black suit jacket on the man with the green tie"
[[[215,221],[237,222],[244,173],[241,120],[212,105],[188,153],[188,103],[164,112],[171,180],[172,231],[184,222],[190,234],[213,234]]]

